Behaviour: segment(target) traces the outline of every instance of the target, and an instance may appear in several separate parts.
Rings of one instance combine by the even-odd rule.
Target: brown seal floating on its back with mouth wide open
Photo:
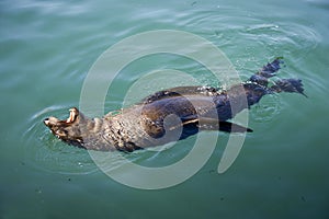
[[[252,129],[228,120],[266,94],[290,92],[305,95],[299,79],[269,81],[276,76],[282,64],[282,58],[276,58],[247,81],[228,90],[178,87],[156,92],[120,113],[111,112],[102,118],[89,118],[73,107],[66,120],[52,116],[44,119],[44,124],[60,140],[99,151],[131,152],[185,139],[200,130],[251,132]],[[241,104],[246,97],[247,104]]]

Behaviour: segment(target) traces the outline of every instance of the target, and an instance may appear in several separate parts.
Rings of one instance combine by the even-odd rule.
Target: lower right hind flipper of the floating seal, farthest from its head
[[[272,92],[288,92],[288,93],[300,93],[302,95],[307,95],[304,93],[304,88],[300,79],[281,79],[274,82],[274,85],[270,88]]]

